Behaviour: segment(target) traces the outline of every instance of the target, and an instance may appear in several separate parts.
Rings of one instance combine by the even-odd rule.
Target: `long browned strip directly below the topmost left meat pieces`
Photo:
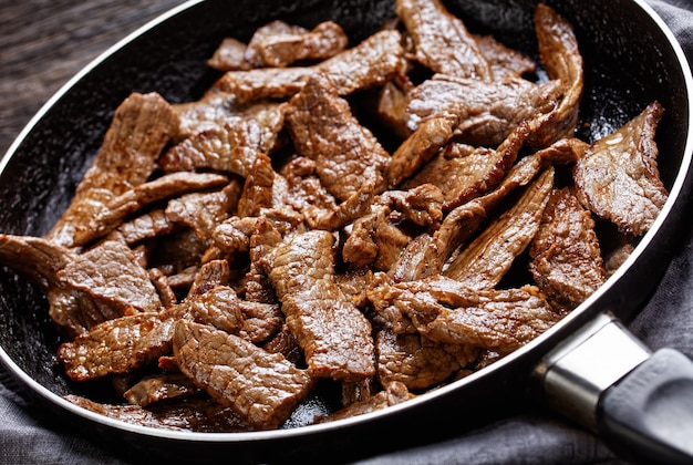
[[[381,31],[312,66],[229,71],[213,91],[231,93],[237,102],[282,99],[299,92],[306,78],[323,73],[340,95],[349,95],[382,85],[399,72],[404,56],[400,40],[397,31]]]

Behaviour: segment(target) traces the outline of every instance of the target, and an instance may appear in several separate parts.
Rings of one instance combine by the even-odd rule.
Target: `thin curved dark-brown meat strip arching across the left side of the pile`
[[[117,228],[130,216],[164,198],[228,183],[226,176],[211,173],[174,173],[141,184],[117,197],[93,207],[92,217],[74,227],[74,246],[85,246]]]

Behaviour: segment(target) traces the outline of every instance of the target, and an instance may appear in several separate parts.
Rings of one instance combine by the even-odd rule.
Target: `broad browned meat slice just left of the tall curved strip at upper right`
[[[417,118],[458,118],[455,138],[470,145],[495,147],[521,122],[551,112],[560,82],[535,84],[521,78],[483,82],[437,74],[411,92],[408,111]]]

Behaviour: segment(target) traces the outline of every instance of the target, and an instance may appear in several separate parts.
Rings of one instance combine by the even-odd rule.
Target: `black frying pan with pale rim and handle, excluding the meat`
[[[473,32],[493,33],[536,55],[535,1],[445,3]],[[86,426],[84,434],[133,457],[156,454],[177,462],[204,454],[271,462],[327,453],[331,462],[341,462],[389,445],[437,437],[443,434],[441,425],[453,420],[501,415],[540,400],[601,434],[627,458],[690,461],[693,364],[669,350],[651,354],[622,324],[656,286],[686,213],[693,184],[690,69],[671,32],[642,1],[547,3],[572,22],[585,58],[578,136],[589,142],[608,134],[654,100],[664,106],[658,130],[659,167],[670,199],[621,269],[535,341],[464,380],[354,418],[306,425],[311,412],[329,409],[329,393],[321,393],[290,418],[291,427],[278,431],[159,431],[106,418],[61,399],[75,386],[54,364],[59,338],[45,298],[32,282],[0,269],[0,360],[56,415]],[[12,144],[0,164],[2,231],[45,234],[97,153],[115,107],[131,92],[156,91],[174,103],[196,100],[218,78],[204,61],[224,37],[248,40],[255,29],[277,18],[304,27],[332,19],[356,43],[392,14],[392,1],[376,0],[208,0],[172,10],[75,76]],[[590,359],[594,353],[599,356]],[[664,422],[658,421],[662,412]]]

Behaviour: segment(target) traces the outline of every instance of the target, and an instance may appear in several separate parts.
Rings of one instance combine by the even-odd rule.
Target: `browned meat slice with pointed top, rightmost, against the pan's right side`
[[[668,198],[656,166],[654,102],[614,133],[594,142],[573,170],[582,205],[628,235],[645,234]]]

